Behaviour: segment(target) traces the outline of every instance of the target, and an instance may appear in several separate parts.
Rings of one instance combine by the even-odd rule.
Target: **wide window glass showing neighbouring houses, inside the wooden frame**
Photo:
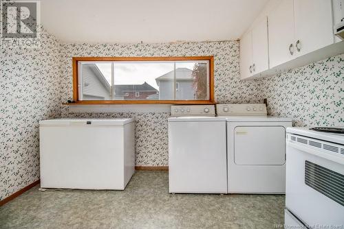
[[[209,62],[82,61],[79,100],[208,100]]]

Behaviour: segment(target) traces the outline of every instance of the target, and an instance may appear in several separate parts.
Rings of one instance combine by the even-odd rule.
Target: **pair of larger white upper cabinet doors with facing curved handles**
[[[268,14],[270,68],[333,44],[332,20],[331,0],[281,1]]]

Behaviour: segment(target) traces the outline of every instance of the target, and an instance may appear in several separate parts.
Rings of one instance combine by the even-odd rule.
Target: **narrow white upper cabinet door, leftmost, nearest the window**
[[[248,32],[240,39],[240,75],[245,79],[252,75],[252,33]]]

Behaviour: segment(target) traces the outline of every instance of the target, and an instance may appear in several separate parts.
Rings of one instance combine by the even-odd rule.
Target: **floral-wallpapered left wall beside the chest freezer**
[[[0,200],[39,179],[39,120],[61,109],[58,41],[1,49]]]

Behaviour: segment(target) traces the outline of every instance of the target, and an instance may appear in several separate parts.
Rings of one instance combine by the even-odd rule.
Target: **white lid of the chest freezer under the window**
[[[40,126],[44,125],[118,125],[122,126],[133,122],[133,118],[127,119],[50,119],[39,121]]]

